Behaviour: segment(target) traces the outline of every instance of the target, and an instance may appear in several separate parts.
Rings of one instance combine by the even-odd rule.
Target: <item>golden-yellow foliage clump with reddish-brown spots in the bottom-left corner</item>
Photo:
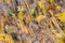
[[[1,41],[1,43],[3,43],[3,42],[4,42],[4,43],[5,43],[5,42],[8,42],[8,43],[14,43],[12,37],[5,34],[5,33],[0,33],[0,41]]]

